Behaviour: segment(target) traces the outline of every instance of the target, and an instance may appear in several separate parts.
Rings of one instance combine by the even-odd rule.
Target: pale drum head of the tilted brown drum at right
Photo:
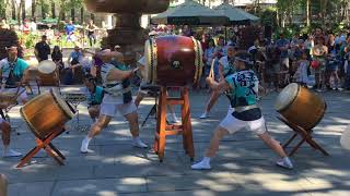
[[[278,95],[275,109],[281,111],[290,106],[295,99],[299,91],[299,85],[296,83],[291,83]]]

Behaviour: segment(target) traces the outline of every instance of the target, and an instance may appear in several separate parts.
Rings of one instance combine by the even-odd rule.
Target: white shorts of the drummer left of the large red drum
[[[121,115],[127,115],[129,113],[132,113],[137,111],[138,108],[136,107],[133,100],[129,103],[104,103],[101,105],[101,114],[102,115],[108,115],[108,117],[116,117],[117,112],[119,112]]]

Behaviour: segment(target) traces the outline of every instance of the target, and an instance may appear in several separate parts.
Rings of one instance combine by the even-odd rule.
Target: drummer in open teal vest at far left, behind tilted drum
[[[0,78],[2,78],[0,93],[21,93],[20,101],[25,103],[28,97],[23,86],[27,84],[30,65],[18,57],[16,46],[7,48],[7,51],[8,58],[0,61]]]

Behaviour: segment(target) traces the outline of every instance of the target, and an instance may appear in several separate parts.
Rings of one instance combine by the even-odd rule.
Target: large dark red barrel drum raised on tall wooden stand
[[[202,72],[202,49],[198,40],[184,36],[161,36],[145,41],[147,84],[185,86],[198,83]]]

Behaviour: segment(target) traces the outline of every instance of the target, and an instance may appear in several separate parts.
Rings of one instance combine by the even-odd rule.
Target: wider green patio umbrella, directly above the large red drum
[[[151,19],[152,24],[173,25],[222,25],[229,19],[222,13],[205,7],[196,1],[188,0],[183,4],[167,9]]]

